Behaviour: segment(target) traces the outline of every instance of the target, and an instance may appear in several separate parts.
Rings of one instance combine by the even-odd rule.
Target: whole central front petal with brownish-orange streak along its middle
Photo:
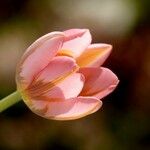
[[[78,69],[74,59],[67,56],[54,57],[28,86],[27,95],[31,95],[34,99],[40,99],[39,97],[47,95],[48,97],[50,95],[51,98],[77,96],[84,84],[84,77],[81,77],[83,75],[75,74]],[[67,87],[65,88],[65,86]]]

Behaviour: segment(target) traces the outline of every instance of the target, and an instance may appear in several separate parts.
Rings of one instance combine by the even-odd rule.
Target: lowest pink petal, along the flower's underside
[[[41,107],[42,106],[42,107]],[[102,102],[94,97],[77,97],[68,100],[34,101],[32,111],[47,119],[73,120],[94,113]]]

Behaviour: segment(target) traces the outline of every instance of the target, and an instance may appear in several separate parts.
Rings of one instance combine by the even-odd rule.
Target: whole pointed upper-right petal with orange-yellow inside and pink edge
[[[99,67],[107,59],[112,46],[108,44],[92,44],[82,55],[76,58],[80,67]]]

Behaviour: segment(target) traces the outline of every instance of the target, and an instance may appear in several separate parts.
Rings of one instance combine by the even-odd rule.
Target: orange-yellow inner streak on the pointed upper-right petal
[[[80,67],[85,67],[93,63],[97,58],[100,58],[106,51],[106,48],[85,50],[85,52],[76,59],[76,62]]]

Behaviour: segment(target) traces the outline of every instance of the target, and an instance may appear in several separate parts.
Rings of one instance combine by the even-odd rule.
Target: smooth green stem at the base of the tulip
[[[21,100],[21,95],[18,91],[8,95],[7,97],[0,100],[0,112],[14,105]]]

